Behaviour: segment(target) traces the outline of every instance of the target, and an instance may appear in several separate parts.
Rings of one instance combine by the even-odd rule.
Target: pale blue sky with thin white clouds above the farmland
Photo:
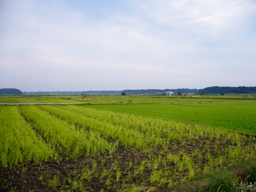
[[[0,88],[256,86],[255,0],[0,1]]]

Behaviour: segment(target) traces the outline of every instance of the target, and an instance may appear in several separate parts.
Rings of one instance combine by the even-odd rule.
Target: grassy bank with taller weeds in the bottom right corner
[[[193,177],[179,186],[172,187],[173,191],[191,192],[239,192],[256,190],[256,158],[242,163],[224,167],[221,170]],[[252,190],[253,189],[253,190]]]

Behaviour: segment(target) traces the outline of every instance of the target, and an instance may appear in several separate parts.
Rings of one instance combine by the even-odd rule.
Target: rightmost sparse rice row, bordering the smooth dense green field
[[[157,137],[171,140],[191,140],[201,138],[215,138],[241,143],[244,136],[235,132],[219,129],[209,129],[209,127],[191,126],[183,123],[165,121],[163,119],[145,118],[141,116],[113,113],[110,111],[89,109],[81,106],[58,106],[58,108],[73,111],[84,117],[97,119],[101,122],[108,122],[126,129],[135,129],[139,132],[157,135]]]

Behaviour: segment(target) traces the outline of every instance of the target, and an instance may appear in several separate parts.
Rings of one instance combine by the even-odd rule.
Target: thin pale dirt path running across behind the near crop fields
[[[173,102],[173,103],[132,103],[132,104],[199,104],[199,103],[243,103],[256,101],[227,101],[227,102]],[[111,105],[113,103],[90,103],[90,105]],[[115,103],[115,105],[131,103]],[[0,106],[36,106],[36,105],[88,105],[88,103],[0,103]]]

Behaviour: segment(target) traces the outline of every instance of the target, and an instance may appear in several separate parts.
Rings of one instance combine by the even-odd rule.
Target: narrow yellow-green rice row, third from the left
[[[147,146],[160,145],[163,139],[156,134],[141,133],[136,129],[129,129],[120,125],[113,125],[106,121],[86,117],[83,114],[74,111],[63,110],[52,106],[37,106],[40,109],[49,111],[52,115],[57,116],[69,123],[79,125],[88,130],[95,130],[102,134],[102,137],[112,138],[121,141],[126,147],[143,148]]]

